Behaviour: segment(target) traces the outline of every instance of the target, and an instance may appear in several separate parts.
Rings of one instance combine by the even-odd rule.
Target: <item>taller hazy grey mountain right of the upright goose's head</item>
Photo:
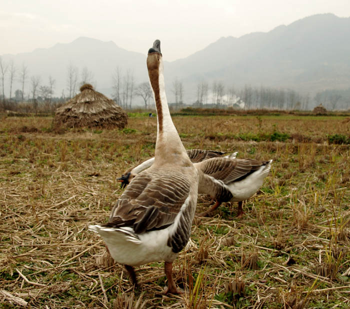
[[[222,37],[170,63],[185,84],[286,87],[316,92],[350,85],[350,18],[319,14],[239,38]]]

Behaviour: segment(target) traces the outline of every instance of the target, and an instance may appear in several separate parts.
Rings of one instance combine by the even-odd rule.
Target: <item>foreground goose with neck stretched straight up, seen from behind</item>
[[[88,228],[103,238],[111,257],[124,265],[134,286],[135,266],[164,261],[168,284],[164,294],[179,294],[172,279],[172,262],[191,233],[198,172],[170,117],[159,40],[148,50],[147,69],[157,112],[154,163],[134,177],[107,223]]]

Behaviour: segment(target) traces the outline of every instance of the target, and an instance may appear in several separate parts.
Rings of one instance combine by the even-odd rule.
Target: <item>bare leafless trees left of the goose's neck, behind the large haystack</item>
[[[13,91],[14,81],[20,84],[20,88],[15,91]],[[39,75],[30,76],[25,63],[16,67],[13,60],[5,62],[1,56],[0,82],[0,109],[14,110],[18,107],[18,103],[29,103],[25,106],[25,110],[31,108],[34,112],[39,107],[41,110],[53,112],[57,106],[74,97],[79,87],[85,83],[96,87],[94,74],[91,70],[85,66],[79,72],[78,67],[70,63],[66,68],[65,88],[62,89],[59,96],[53,96],[56,80],[52,76],[49,76],[48,80],[44,82]],[[130,109],[132,99],[135,96],[142,98],[144,107],[149,108],[152,92],[148,81],[136,84],[131,70],[126,70],[126,73],[122,74],[122,70],[116,67],[111,76],[111,83],[112,99],[122,108]],[[8,93],[5,93],[5,86],[9,89]],[[29,89],[27,93],[24,92],[25,88]]]

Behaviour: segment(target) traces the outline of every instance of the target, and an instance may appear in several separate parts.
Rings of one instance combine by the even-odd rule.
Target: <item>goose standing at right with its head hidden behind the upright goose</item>
[[[223,202],[238,202],[237,217],[243,215],[242,201],[262,186],[272,160],[212,158],[194,163],[199,173],[198,194],[207,194],[216,203],[198,216],[208,216]]]

